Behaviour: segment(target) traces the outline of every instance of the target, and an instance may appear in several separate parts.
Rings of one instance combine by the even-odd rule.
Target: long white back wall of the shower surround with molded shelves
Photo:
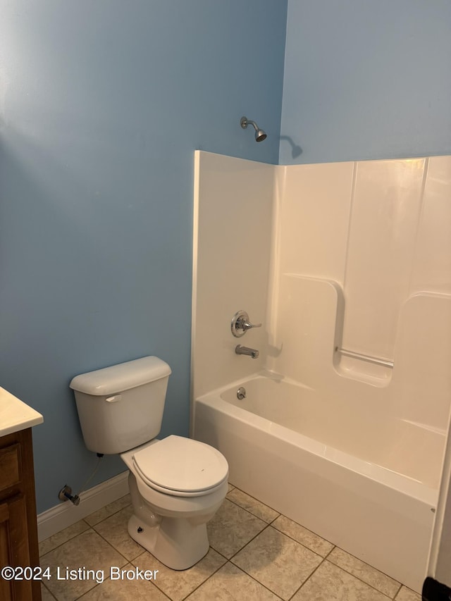
[[[277,177],[268,367],[335,397],[373,397],[375,408],[444,432],[451,157],[280,167]],[[333,332],[321,313],[330,286],[320,280],[337,287]]]

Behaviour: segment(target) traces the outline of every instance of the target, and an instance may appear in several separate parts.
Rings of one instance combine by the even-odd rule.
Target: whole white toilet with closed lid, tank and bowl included
[[[82,373],[70,382],[86,447],[121,454],[130,470],[128,533],[159,561],[184,570],[209,550],[206,523],[228,491],[228,463],[214,447],[162,440],[171,368],[158,357]]]

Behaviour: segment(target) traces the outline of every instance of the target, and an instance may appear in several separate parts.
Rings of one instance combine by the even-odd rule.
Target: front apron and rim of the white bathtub
[[[268,378],[260,379],[258,384],[265,384]],[[271,420],[260,416],[264,411],[260,415],[249,413],[247,400],[240,407],[225,400],[234,393],[236,398],[237,386],[243,385],[249,391],[250,402],[257,400],[257,404],[265,405],[264,395],[257,399],[252,396],[255,383],[252,379],[240,380],[227,390],[200,397],[194,435],[221,449],[230,473],[243,490],[259,496],[290,519],[302,519],[306,528],[384,574],[421,590],[437,490],[412,476],[401,476],[361,459],[350,447],[354,443],[358,449],[365,430],[351,432],[349,452],[333,447],[335,441],[323,443],[309,438],[309,429],[304,429],[304,421],[309,421],[309,399],[302,397],[303,391],[298,392],[290,399],[287,411],[280,402],[284,395],[280,388],[285,383],[277,385],[271,398]],[[297,423],[291,420],[288,428],[280,426],[293,404],[298,405],[301,419]],[[326,412],[321,417],[329,421]],[[335,427],[341,427],[340,420],[335,419]],[[410,452],[418,438],[410,445],[408,441],[404,452]],[[381,449],[381,455],[396,452],[399,442],[400,438],[387,440],[390,448]],[[421,440],[420,444],[424,446]]]

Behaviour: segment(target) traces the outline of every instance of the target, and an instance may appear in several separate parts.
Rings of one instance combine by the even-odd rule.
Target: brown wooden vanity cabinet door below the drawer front
[[[25,497],[18,495],[0,504],[0,566],[30,565],[27,537],[27,505]],[[30,581],[0,578],[2,601],[29,601],[32,598]]]

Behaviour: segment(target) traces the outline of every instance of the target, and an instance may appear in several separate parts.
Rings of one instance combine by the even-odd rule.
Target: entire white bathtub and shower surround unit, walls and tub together
[[[246,492],[421,590],[450,416],[451,157],[196,155],[194,436]],[[234,199],[259,228],[231,232]],[[234,352],[238,309],[264,324],[240,338],[259,359]]]

